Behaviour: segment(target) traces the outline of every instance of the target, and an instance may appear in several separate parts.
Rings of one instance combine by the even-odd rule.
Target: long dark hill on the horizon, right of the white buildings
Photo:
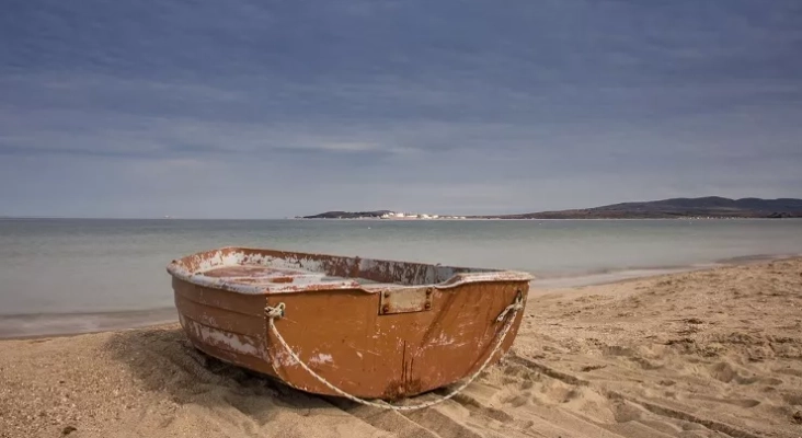
[[[493,217],[501,219],[802,218],[802,199],[729,199],[709,196]]]

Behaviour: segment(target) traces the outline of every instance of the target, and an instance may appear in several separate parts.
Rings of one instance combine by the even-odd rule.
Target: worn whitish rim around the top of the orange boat
[[[198,273],[197,270],[191,270],[186,267],[186,261],[191,257],[198,257],[198,256],[205,256],[205,255],[211,255],[211,254],[221,254],[222,252],[251,252],[256,254],[263,254],[265,252],[268,253],[282,253],[287,256],[312,256],[312,257],[321,257],[321,258],[340,258],[340,260],[347,260],[350,262],[355,263],[388,263],[388,264],[399,264],[399,265],[417,265],[417,266],[425,266],[425,267],[432,267],[432,268],[444,268],[444,269],[452,269],[455,274],[449,276],[443,281],[432,281],[432,283],[424,283],[424,284],[414,284],[414,285],[405,285],[402,283],[390,283],[390,284],[362,284],[358,280],[364,279],[362,277],[345,277],[351,278],[350,280],[343,280],[343,281],[312,281],[305,284],[303,286],[298,285],[289,285],[289,284],[273,284],[273,285],[248,285],[244,283],[238,283],[232,281],[231,278],[227,277],[210,277],[207,275],[204,275],[202,273]],[[271,257],[274,258],[283,258],[287,260],[285,257],[277,257],[271,255]],[[208,257],[208,260],[211,260],[214,257]],[[222,261],[218,265],[213,266],[234,266],[231,264],[226,264]],[[230,292],[238,292],[243,295],[275,295],[275,293],[293,293],[293,292],[314,292],[314,291],[332,291],[332,290],[356,290],[362,291],[365,293],[378,293],[380,291],[387,290],[388,288],[392,288],[393,290],[404,290],[404,289],[420,289],[420,288],[435,288],[435,289],[451,289],[456,288],[466,284],[476,284],[476,283],[497,283],[497,281],[531,281],[535,279],[535,276],[520,272],[520,270],[511,270],[511,269],[497,269],[497,268],[473,268],[473,267],[460,267],[460,266],[443,266],[439,264],[429,264],[429,263],[420,263],[420,262],[404,262],[404,261],[396,261],[396,260],[385,260],[385,258],[362,258],[359,256],[343,256],[343,255],[333,255],[333,254],[325,254],[325,253],[308,253],[308,252],[300,252],[300,251],[285,251],[285,250],[278,250],[278,249],[261,249],[261,247],[249,247],[249,246],[237,246],[237,245],[229,245],[229,246],[221,246],[213,250],[207,251],[199,251],[190,255],[186,255],[184,257],[173,260],[168,264],[167,272],[173,276],[176,279],[187,281],[190,284],[200,286],[200,287],[207,287],[207,288],[214,288],[214,289],[221,289]]]

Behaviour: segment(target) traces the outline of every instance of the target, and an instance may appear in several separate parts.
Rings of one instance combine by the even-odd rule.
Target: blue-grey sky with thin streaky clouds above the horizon
[[[802,197],[799,0],[43,1],[0,14],[0,216]]]

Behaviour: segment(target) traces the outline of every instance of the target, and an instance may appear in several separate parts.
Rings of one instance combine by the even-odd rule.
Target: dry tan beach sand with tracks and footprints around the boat
[[[532,290],[502,362],[405,414],[198,355],[176,324],[0,342],[0,437],[800,437],[800,411],[802,260]]]

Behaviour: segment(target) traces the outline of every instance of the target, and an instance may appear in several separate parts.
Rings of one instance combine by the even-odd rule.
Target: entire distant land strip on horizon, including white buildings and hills
[[[802,199],[742,198],[718,196],[700,198],[671,198],[662,200],[612,204],[602,207],[527,212],[519,215],[455,216],[393,210],[326,211],[296,219],[684,219],[684,218],[802,218]]]

